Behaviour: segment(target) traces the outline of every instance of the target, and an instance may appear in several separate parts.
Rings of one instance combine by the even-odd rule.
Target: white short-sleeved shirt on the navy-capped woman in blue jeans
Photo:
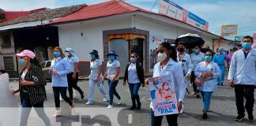
[[[118,67],[120,67],[118,60],[107,61],[107,79],[111,80],[115,76]],[[116,80],[119,80],[119,76],[117,76]]]

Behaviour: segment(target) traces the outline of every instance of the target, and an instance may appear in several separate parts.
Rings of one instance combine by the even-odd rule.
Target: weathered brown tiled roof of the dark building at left
[[[40,12],[29,14],[28,16],[25,16],[25,17],[19,17],[14,20],[2,22],[0,23],[0,27],[6,26],[6,25],[12,25],[12,24],[20,24],[20,23],[29,22],[29,21],[50,20],[58,17],[65,17],[70,13],[76,12],[77,10],[81,9],[84,6],[86,5],[67,6],[67,7],[57,8],[57,9],[47,9]]]

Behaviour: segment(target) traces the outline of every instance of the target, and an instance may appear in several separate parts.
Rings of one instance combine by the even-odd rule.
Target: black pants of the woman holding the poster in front
[[[178,116],[179,114],[166,115],[166,120],[168,121],[169,126],[178,126]],[[154,116],[154,111],[151,109],[151,125],[152,126],[161,126],[164,116]]]

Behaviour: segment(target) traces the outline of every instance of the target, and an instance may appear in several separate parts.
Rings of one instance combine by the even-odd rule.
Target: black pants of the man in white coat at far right
[[[243,105],[243,97],[247,99],[245,106]],[[239,115],[244,115],[245,109],[251,114],[254,110],[254,85],[235,85],[235,104]]]

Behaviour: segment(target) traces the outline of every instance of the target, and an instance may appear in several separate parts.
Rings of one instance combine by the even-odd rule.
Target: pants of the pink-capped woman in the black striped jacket
[[[28,116],[29,113],[34,107],[37,115],[43,120],[45,125],[51,125],[50,119],[47,117],[46,113],[43,109],[43,102],[37,103],[35,105],[31,105],[29,100],[29,95],[24,93],[24,98],[22,98],[22,109],[21,109],[21,123],[20,126],[26,126],[28,124]]]

